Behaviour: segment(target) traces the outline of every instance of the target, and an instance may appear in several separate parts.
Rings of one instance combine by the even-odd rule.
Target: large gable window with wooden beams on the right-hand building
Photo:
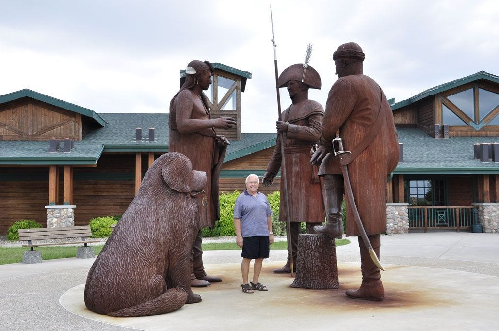
[[[499,91],[483,83],[467,84],[461,91],[442,94],[442,124],[466,126],[475,130],[499,125]]]

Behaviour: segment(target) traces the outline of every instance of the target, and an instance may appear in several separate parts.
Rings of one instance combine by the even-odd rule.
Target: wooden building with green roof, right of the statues
[[[481,160],[474,145],[499,143],[499,77],[481,71],[391,107],[403,160],[387,202],[409,204],[409,228],[470,229],[478,218],[498,231],[499,149],[487,145]]]

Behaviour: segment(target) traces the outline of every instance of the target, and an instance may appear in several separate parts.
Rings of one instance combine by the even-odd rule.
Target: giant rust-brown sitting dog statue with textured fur
[[[190,287],[190,256],[199,230],[193,195],[205,183],[206,173],[183,154],[164,154],[151,165],[88,272],[89,310],[137,317],[201,302]]]

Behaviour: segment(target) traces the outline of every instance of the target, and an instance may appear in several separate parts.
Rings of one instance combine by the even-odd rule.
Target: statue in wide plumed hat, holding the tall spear
[[[292,104],[282,112],[282,121],[277,121],[277,132],[284,133],[284,158],[286,162],[287,189],[281,177],[279,220],[290,220],[292,257],[287,257],[286,264],[274,273],[290,273],[290,258],[293,271],[296,269],[296,252],[300,222],[306,222],[307,233],[316,233],[314,225],[324,222],[324,203],[322,200],[319,177],[316,166],[310,165],[310,148],[320,137],[320,126],[324,110],[314,100],[308,99],[308,89],[320,89],[321,81],[317,71],[308,64],[294,64],[280,74],[277,85],[287,87]],[[263,175],[263,184],[272,184],[274,176],[281,166],[280,140],[277,139],[272,157]],[[284,194],[289,202],[289,214],[286,215]]]

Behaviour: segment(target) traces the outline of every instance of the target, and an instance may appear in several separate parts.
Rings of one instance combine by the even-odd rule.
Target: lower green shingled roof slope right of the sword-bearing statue
[[[396,174],[499,174],[499,162],[473,158],[474,144],[499,143],[499,136],[435,139],[415,128],[398,128],[397,133],[404,163],[397,165]]]

